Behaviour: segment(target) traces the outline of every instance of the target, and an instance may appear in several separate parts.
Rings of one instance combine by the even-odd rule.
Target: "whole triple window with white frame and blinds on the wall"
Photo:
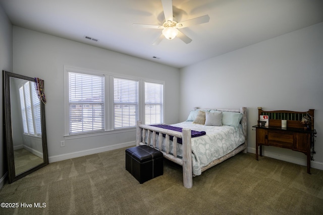
[[[65,66],[65,135],[164,123],[164,82]]]

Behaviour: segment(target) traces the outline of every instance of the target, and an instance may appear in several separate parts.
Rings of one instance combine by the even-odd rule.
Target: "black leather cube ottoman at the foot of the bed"
[[[164,173],[163,153],[148,146],[126,149],[126,170],[140,184]]]

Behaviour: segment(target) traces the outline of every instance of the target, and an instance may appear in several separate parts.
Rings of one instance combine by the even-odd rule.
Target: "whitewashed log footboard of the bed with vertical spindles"
[[[147,141],[146,139],[147,131]],[[163,134],[165,135],[166,150],[162,149]],[[158,138],[156,138],[158,135]],[[150,138],[152,136],[152,138]],[[173,152],[170,152],[170,136],[173,136]],[[183,145],[183,157],[182,159],[177,157],[177,138],[182,138]],[[156,141],[157,139],[157,141]],[[191,146],[191,130],[183,128],[182,132],[172,131],[164,128],[158,128],[142,124],[141,121],[137,122],[137,135],[136,145],[148,145],[154,149],[163,153],[164,158],[173,161],[183,166],[183,184],[186,188],[193,186],[192,175],[192,146]]]

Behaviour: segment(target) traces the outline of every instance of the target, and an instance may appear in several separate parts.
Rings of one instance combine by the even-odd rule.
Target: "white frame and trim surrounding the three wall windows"
[[[78,134],[69,134],[69,81],[68,81],[68,74],[69,72],[72,73],[83,73],[88,75],[104,75],[105,80],[105,101],[104,101],[104,113],[105,113],[105,119],[104,119],[104,131],[93,131],[88,133],[78,133]],[[165,82],[164,81],[158,81],[158,80],[152,80],[152,79],[146,79],[146,78],[140,78],[140,77],[133,77],[133,76],[127,76],[127,75],[120,75],[115,73],[108,73],[106,71],[97,71],[92,69],[85,69],[85,68],[78,68],[74,66],[68,66],[64,65],[64,112],[65,112],[65,137],[71,137],[75,136],[75,138],[78,137],[86,137],[86,136],[92,136],[92,135],[102,135],[106,132],[108,133],[115,133],[120,132],[122,130],[135,130],[136,126],[132,127],[122,127],[122,128],[114,128],[114,79],[125,79],[125,80],[132,80],[132,81],[138,81],[138,120],[141,120],[144,123],[145,118],[145,101],[144,101],[144,83],[156,83],[163,85],[163,123],[165,122]]]

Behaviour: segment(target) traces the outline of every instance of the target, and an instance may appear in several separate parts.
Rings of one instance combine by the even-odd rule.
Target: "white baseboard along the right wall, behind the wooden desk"
[[[248,147],[248,152],[256,154],[256,149]],[[301,158],[291,157],[291,156],[287,156],[287,155],[272,153],[272,152],[268,152],[265,150],[263,150],[262,155],[266,156],[266,157],[274,158],[277,160],[281,160],[281,161],[287,161],[287,162],[290,162],[293,164],[307,166],[306,159],[301,159]],[[311,168],[323,170],[323,163],[317,162],[317,161],[311,161]]]

